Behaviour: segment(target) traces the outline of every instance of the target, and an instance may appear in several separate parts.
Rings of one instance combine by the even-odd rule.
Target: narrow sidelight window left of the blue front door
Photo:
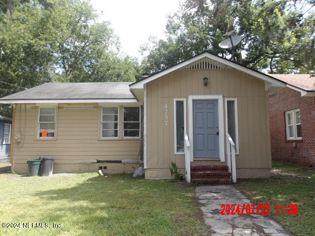
[[[176,153],[184,152],[184,101],[176,101]]]

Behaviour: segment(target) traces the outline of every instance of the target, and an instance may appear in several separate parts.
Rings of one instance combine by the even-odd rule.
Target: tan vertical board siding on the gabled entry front
[[[203,78],[209,79],[203,86]],[[237,98],[240,154],[239,169],[270,168],[270,144],[264,82],[237,70],[176,70],[147,84],[148,169],[165,171],[171,161],[185,168],[185,156],[174,154],[174,98],[186,98],[186,125],[189,130],[189,95],[222,94]],[[164,105],[168,105],[168,125]],[[223,103],[225,106],[225,102]],[[225,117],[225,107],[224,107]],[[224,122],[225,125],[225,122]],[[225,139],[224,139],[225,140]],[[225,147],[225,145],[224,145]],[[192,164],[225,165],[219,160],[196,160]]]

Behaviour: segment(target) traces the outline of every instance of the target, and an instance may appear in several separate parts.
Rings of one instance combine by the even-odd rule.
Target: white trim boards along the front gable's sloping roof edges
[[[190,63],[192,63],[192,62],[194,62],[196,60],[199,60],[199,59],[202,59],[202,58],[205,58],[205,57],[209,58],[209,59],[216,60],[218,62],[221,62],[222,64],[230,66],[230,67],[232,67],[234,69],[237,69],[239,71],[242,71],[242,72],[244,72],[246,74],[252,75],[252,76],[254,76],[254,77],[258,78],[258,79],[270,82],[270,83],[274,84],[276,87],[283,87],[283,88],[286,87],[286,83],[284,83],[284,82],[281,82],[281,81],[279,81],[277,79],[273,79],[273,78],[271,78],[271,77],[269,77],[269,76],[267,76],[265,74],[261,74],[259,72],[253,71],[253,70],[251,70],[249,68],[246,68],[244,66],[236,64],[236,63],[234,63],[232,61],[229,61],[229,60],[223,59],[221,57],[212,55],[212,54],[210,54],[208,52],[205,52],[205,53],[202,53],[202,54],[200,54],[200,55],[198,55],[196,57],[193,57],[191,59],[188,59],[186,61],[178,63],[177,65],[172,66],[172,67],[170,67],[170,68],[168,68],[166,70],[163,70],[163,71],[161,71],[161,72],[159,72],[159,73],[157,73],[157,74],[155,74],[153,76],[149,76],[147,79],[144,79],[144,80],[139,81],[139,82],[137,82],[137,83],[135,83],[133,85],[130,85],[130,89],[143,89],[143,85],[144,84],[146,84],[148,82],[151,82],[151,81],[153,81],[153,80],[155,80],[155,79],[157,79],[157,78],[159,78],[159,77],[161,77],[163,75],[166,75],[166,74],[168,74],[168,73],[170,73],[170,72],[172,72],[174,70],[180,69],[180,68],[182,68],[185,65],[188,65],[188,64],[190,64]]]

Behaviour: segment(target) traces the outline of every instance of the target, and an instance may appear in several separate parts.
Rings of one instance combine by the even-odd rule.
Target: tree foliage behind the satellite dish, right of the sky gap
[[[223,34],[232,29],[243,39],[238,63],[270,73],[314,73],[314,0],[185,0],[168,17],[166,40],[142,46],[147,72],[158,71],[208,50],[224,58]],[[308,12],[307,12],[308,11]]]

